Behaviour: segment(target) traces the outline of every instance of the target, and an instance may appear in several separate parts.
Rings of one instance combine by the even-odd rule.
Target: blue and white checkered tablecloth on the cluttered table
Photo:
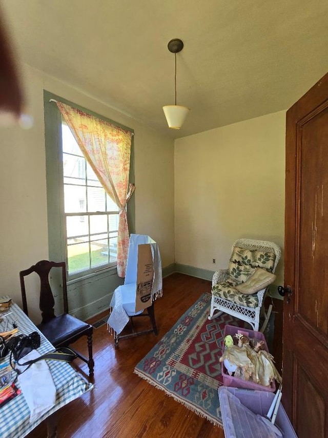
[[[9,297],[7,297],[9,298]],[[29,335],[34,331],[40,334],[41,344],[37,351],[42,355],[53,351],[54,347],[48,339],[35,327],[33,322],[17,306],[16,303],[10,304],[8,313],[0,313],[3,318],[0,322],[0,332],[4,331],[5,319],[8,319],[8,330],[12,329],[12,322],[18,327],[18,334]],[[0,365],[9,361],[9,355],[0,359]],[[23,393],[20,393],[4,406],[0,406],[0,436],[4,438],[22,438],[32,429],[40,424],[45,418],[57,411],[62,406],[92,389],[93,385],[88,383],[80,374],[78,374],[67,362],[56,360],[47,360],[51,375],[56,387],[56,404],[47,413],[37,421],[30,423],[30,410],[25,401]],[[14,374],[14,372],[13,372]],[[19,383],[16,382],[19,388]]]

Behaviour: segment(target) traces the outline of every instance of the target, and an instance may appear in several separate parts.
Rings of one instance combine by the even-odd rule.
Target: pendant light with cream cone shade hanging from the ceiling
[[[168,49],[171,53],[174,53],[175,58],[175,74],[174,74],[174,89],[175,89],[175,104],[163,106],[163,111],[168,122],[169,128],[180,129],[185,122],[189,108],[176,104],[176,54],[183,49],[183,43],[181,40],[174,39],[168,44]]]

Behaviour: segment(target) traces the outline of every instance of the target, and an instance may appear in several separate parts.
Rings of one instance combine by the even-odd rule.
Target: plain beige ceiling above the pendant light
[[[289,108],[328,71],[326,0],[1,0],[20,60],[172,138]],[[191,108],[180,130],[163,105]]]

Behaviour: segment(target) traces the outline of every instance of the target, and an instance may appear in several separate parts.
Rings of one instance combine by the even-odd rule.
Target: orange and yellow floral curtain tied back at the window
[[[57,106],[93,172],[119,208],[117,274],[125,277],[130,238],[126,204],[135,188],[129,184],[132,132],[64,103],[57,102]]]

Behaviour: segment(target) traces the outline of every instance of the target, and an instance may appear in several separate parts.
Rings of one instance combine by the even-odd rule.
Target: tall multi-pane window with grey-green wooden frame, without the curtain
[[[106,194],[53,100],[132,130],[44,91],[49,259],[66,260],[68,280],[81,284],[72,291],[92,290],[101,297],[111,290],[111,282],[117,285],[119,208]],[[129,181],[134,181],[133,142]],[[130,233],[135,230],[134,212],[132,197],[127,206]]]

